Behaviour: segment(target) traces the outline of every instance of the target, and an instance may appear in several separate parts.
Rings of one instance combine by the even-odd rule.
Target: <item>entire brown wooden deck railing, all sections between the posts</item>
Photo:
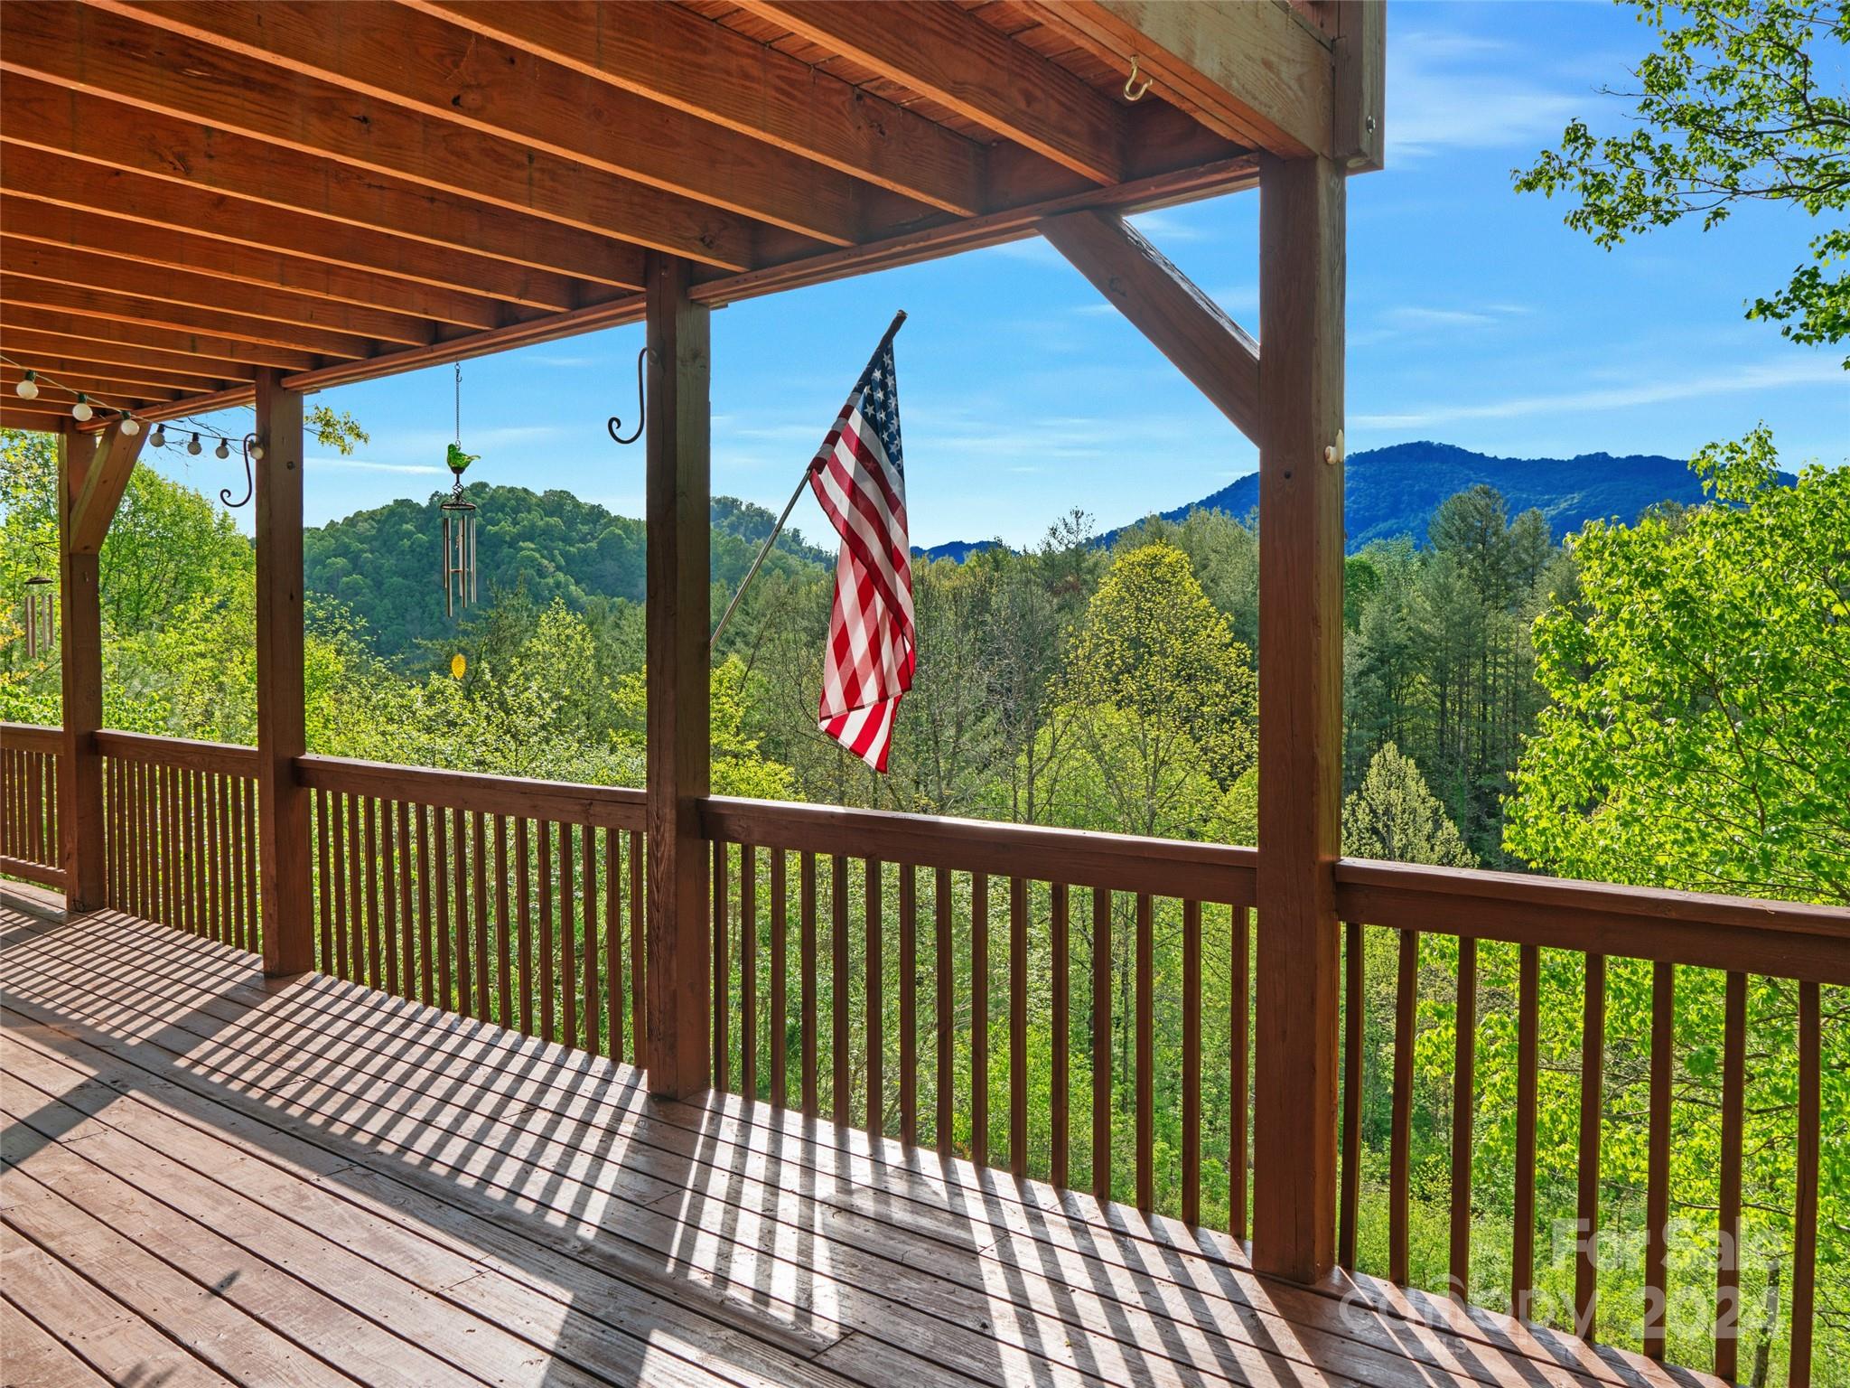
[[[100,733],[98,751],[109,903],[255,949],[255,755],[126,733]],[[56,729],[6,727],[6,872],[56,862]],[[324,972],[646,1062],[642,792],[329,757],[300,759],[298,779],[314,809]],[[727,798],[701,801],[701,825],[716,848],[716,1086],[1247,1236],[1254,849]],[[1593,1234],[1619,1205],[1643,1203],[1646,1290],[1667,1281],[1672,1208],[1706,1218],[1719,1247],[1739,1245],[1746,1142],[1769,1122],[1748,1103],[1748,1046],[1770,1038],[1796,1057],[1789,1094],[1770,1105],[1793,1149],[1772,1208],[1789,1218],[1783,1355],[1789,1381],[1806,1382],[1820,1134],[1843,1140],[1846,1123],[1839,1110],[1826,1123],[1820,1107],[1824,1003],[1837,998],[1824,988],[1850,985],[1850,912],[1349,859],[1336,899],[1339,1264],[1436,1281],[1412,1266],[1419,1175],[1428,1207],[1441,1188],[1439,1283],[1478,1303],[1508,1294],[1517,1314],[1591,1336],[1610,1271]],[[1177,970],[1158,970],[1158,940]],[[1750,988],[1769,981],[1789,1007],[1752,1014]],[[1715,1003],[1693,1035],[1689,1018],[1674,1025],[1678,990],[1687,1005]],[[1645,999],[1643,1040],[1619,1046],[1630,1018],[1608,1010],[1613,996]],[[1421,1051],[1421,1036],[1443,1027],[1445,1112],[1423,1114],[1415,1066],[1424,1055],[1432,1070],[1434,1046]],[[1480,1059],[1497,1046],[1498,1064],[1513,1046],[1511,1084],[1482,1112]],[[1641,1192],[1606,1160],[1632,1072],[1648,1092]],[[1715,1188],[1700,1197],[1671,1188],[1672,1116],[1687,1103],[1713,1103],[1719,1127]],[[1537,1144],[1545,1122],[1558,1138],[1569,1105],[1565,1214],[1578,1236],[1571,1305],[1550,1312],[1536,1299],[1548,1225]],[[1382,1112],[1384,1177],[1363,1151]],[[1449,1140],[1443,1179],[1412,1168],[1419,1122]],[[1487,1123],[1513,1127],[1515,1218],[1491,1258],[1473,1168]],[[1558,1190],[1554,1205],[1561,1214]],[[1365,1255],[1371,1221],[1373,1233],[1386,1221],[1380,1266]],[[1737,1331],[1758,1307],[1743,1308],[1739,1258],[1717,1257],[1711,1283],[1695,1331],[1661,1295],[1643,1297],[1646,1355],[1735,1375]],[[1693,1332],[1713,1349],[1693,1355]]]

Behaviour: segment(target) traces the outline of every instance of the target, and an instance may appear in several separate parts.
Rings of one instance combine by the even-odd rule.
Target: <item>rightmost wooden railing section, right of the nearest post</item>
[[[1832,907],[1750,901],[1726,896],[1663,892],[1598,883],[1558,881],[1495,872],[1421,868],[1397,862],[1343,861],[1338,864],[1338,911],[1349,922],[1343,931],[1345,1036],[1343,1036],[1343,1127],[1341,1179],[1338,1196],[1339,1262],[1356,1268],[1358,1225],[1362,1221],[1362,1107],[1363,1096],[1384,1077],[1367,1075],[1363,1044],[1369,1025],[1367,962],[1371,957],[1395,959],[1393,990],[1393,1064],[1388,1079],[1391,1094],[1389,1171],[1388,1171],[1388,1275],[1410,1281],[1410,1136],[1413,1125],[1413,1055],[1417,1046],[1419,994],[1434,983],[1432,964],[1423,962],[1423,942],[1434,942],[1439,986],[1450,985],[1452,1075],[1450,1075],[1450,1177],[1449,1177],[1449,1253],[1447,1281],[1460,1301],[1491,1301],[1495,1294],[1484,1279],[1473,1277],[1473,1153],[1478,1136],[1474,1103],[1478,1097],[1476,1060],[1487,1046],[1487,1018],[1480,1010],[1493,992],[1500,1020],[1513,1020],[1515,1083],[1504,1101],[1513,1112],[1498,1114],[1513,1123],[1513,1221],[1510,1238],[1508,1305],[1524,1320],[1547,1316],[1537,1305],[1537,1120],[1548,1112],[1539,1096],[1541,1031],[1545,1020],[1561,1016],[1560,1003],[1578,1012],[1578,1068],[1574,1088],[1576,1170],[1571,1212],[1572,1301],[1571,1321],[1580,1334],[1595,1338],[1597,1295],[1602,1273],[1602,1203],[1622,1181],[1615,1181],[1602,1153],[1615,1127],[1613,1083],[1606,1073],[1611,1046],[1608,1018],[1610,972],[1626,970],[1628,983],[1643,985],[1648,970],[1650,1025],[1645,1044],[1648,1066],[1648,1103],[1645,1118],[1643,1190],[1643,1275],[1641,1303],[1635,1308],[1643,1327],[1641,1347],[1652,1358],[1667,1358],[1671,1338],[1667,1257],[1671,1253],[1672,1203],[1684,1208],[1684,1225],[1702,1223],[1698,1238],[1713,1236],[1713,1316],[1702,1325],[1674,1327],[1684,1345],[1698,1334],[1711,1340],[1709,1364],[1715,1373],[1733,1379],[1739,1369],[1741,1336],[1752,1329],[1774,1336],[1772,1325],[1754,1325],[1761,1307],[1743,1307],[1743,1149],[1745,1094],[1748,1084],[1748,983],[1750,977],[1776,983],[1776,1014],[1761,1018],[1761,1038],[1769,1051],[1791,1047],[1796,1057],[1794,1099],[1789,1107],[1793,1183],[1774,1192],[1791,1214],[1791,1240],[1774,1255],[1789,1270],[1789,1377],[1793,1384],[1811,1381],[1813,1332],[1817,1321],[1819,1253],[1819,1147],[1820,1147],[1820,985],[1850,983],[1850,912]],[[1371,935],[1384,935],[1382,946],[1369,949]],[[1500,953],[1497,988],[1484,977],[1484,951]],[[1543,964],[1550,964],[1545,972]],[[1689,988],[1695,1001],[1708,1001],[1711,1016],[1702,1018],[1695,1036],[1678,1035],[1676,990]],[[1545,988],[1552,994],[1545,1003]],[[1513,998],[1510,992],[1513,990]],[[1635,990],[1628,990],[1635,992]],[[1578,998],[1571,996],[1578,994]],[[1548,1003],[1556,1003],[1550,1009]],[[1513,1018],[1511,1018],[1513,1014]],[[1622,1022],[1622,1018],[1621,1018]],[[1560,1027],[1556,1027],[1560,1031]],[[1637,1047],[1626,1059],[1639,1062]],[[1769,1055],[1758,1057],[1769,1064]],[[1556,1057],[1556,1070],[1561,1057]],[[1778,1090],[1782,1081],[1772,1079]],[[1765,1090],[1763,1090],[1765,1092]],[[1711,1186],[1687,1188],[1672,1201],[1672,1105],[1682,1101],[1715,1112],[1719,1162],[1708,1175]],[[1780,1094],[1767,1096],[1778,1107]],[[1774,1112],[1761,1110],[1770,1122]],[[1833,1116],[1843,1131],[1844,1114]],[[1556,1125],[1560,1118],[1556,1116]],[[1763,1134],[1765,1138],[1765,1134]],[[1502,1249],[1498,1249],[1500,1255]],[[1498,1258],[1500,1262],[1500,1258]],[[1778,1277],[1778,1273],[1774,1273]],[[1565,1312],[1567,1307],[1561,1307]],[[1761,1312],[1763,1314],[1763,1312]]]

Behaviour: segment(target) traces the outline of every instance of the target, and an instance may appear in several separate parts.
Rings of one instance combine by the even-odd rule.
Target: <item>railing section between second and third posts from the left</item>
[[[316,964],[644,1062],[644,798],[302,757]]]

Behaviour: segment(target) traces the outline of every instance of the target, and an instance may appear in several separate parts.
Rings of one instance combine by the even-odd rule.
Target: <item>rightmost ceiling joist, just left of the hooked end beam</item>
[[[1123,181],[1123,107],[949,0],[740,2],[1095,183]]]

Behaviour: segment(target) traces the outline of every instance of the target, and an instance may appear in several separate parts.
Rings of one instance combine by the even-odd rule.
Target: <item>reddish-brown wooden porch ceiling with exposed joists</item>
[[[0,424],[157,420],[1378,167],[1328,0],[7,0]],[[1136,65],[1136,85],[1128,78]],[[1143,83],[1147,91],[1140,94]],[[1138,96],[1132,100],[1132,96]]]

